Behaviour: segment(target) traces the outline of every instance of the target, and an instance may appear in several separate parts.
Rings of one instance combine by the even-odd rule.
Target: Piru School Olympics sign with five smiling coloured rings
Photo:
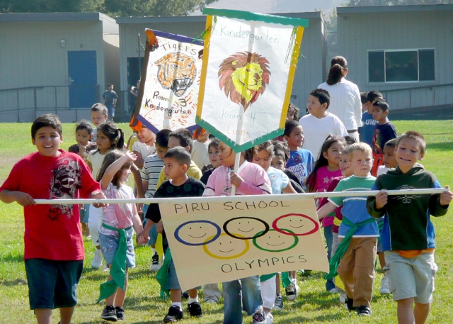
[[[177,198],[159,208],[183,291],[256,274],[328,272],[311,197]]]

